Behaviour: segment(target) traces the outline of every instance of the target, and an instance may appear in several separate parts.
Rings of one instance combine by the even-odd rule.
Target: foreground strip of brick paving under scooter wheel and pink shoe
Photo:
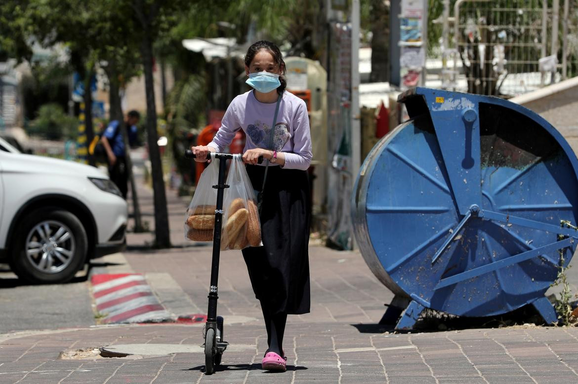
[[[131,325],[0,337],[2,383],[575,383],[576,328],[511,327],[418,334],[368,332],[347,322],[304,322],[287,328],[288,371],[261,371],[261,325],[225,325],[231,348],[223,366],[203,374],[197,352],[154,356],[155,344],[195,345],[201,327]],[[147,355],[58,359],[68,349],[148,344]],[[160,349],[160,347],[159,347]],[[160,352],[156,352],[160,354]]]

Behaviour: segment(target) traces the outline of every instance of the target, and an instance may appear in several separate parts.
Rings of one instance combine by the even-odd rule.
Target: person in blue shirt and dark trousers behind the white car
[[[140,120],[138,111],[130,111],[124,119],[124,125],[128,133],[128,144],[136,144],[136,124]],[[127,170],[127,149],[125,148],[121,122],[113,120],[102,134],[102,145],[105,147],[108,157],[110,180],[120,189],[123,197],[127,198],[128,191],[128,170]]]

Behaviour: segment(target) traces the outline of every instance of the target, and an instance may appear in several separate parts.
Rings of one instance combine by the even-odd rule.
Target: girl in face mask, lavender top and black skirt
[[[255,297],[261,302],[267,342],[261,366],[286,371],[283,334],[288,314],[309,313],[309,180],[312,159],[305,101],[285,91],[285,63],[279,48],[254,43],[244,59],[247,84],[254,89],[235,97],[221,128],[208,146],[194,146],[197,161],[221,152],[243,129],[247,141],[243,161],[253,188],[262,190],[263,246],[243,249]],[[273,123],[273,127],[272,127]]]

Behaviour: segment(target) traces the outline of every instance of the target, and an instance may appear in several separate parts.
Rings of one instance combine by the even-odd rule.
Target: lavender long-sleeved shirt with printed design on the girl
[[[208,145],[221,152],[231,144],[236,131],[242,129],[247,135],[244,151],[274,149],[285,154],[283,168],[306,170],[313,155],[305,101],[290,92],[283,93],[273,130],[273,145],[268,146],[276,104],[261,103],[253,91],[235,97],[223,116],[221,128]]]

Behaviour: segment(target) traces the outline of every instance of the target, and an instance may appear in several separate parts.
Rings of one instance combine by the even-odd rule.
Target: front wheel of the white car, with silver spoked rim
[[[65,283],[84,266],[86,231],[71,212],[37,209],[18,225],[10,265],[30,283]]]

